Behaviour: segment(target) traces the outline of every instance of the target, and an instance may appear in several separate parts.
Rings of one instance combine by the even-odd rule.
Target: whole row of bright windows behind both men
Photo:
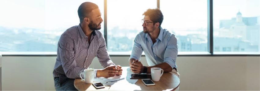
[[[61,34],[79,25],[77,9],[83,2],[97,4],[106,17],[99,31],[112,54],[130,54],[143,31],[142,14],[157,6],[164,15],[162,28],[176,35],[179,53],[260,53],[260,0],[1,0],[0,52],[56,52]],[[213,17],[208,2],[213,2]]]

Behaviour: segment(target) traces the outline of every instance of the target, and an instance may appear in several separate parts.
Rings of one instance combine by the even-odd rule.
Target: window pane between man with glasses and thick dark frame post
[[[160,8],[179,52],[207,52],[207,0],[160,0]]]

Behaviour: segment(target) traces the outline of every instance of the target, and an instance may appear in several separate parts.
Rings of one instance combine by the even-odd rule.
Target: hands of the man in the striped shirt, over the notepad
[[[97,77],[113,77],[115,74],[118,73],[117,66],[108,66],[102,70],[97,71]]]

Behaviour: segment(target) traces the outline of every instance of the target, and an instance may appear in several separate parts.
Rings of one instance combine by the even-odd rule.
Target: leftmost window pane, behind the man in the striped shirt
[[[61,34],[79,25],[83,2],[96,3],[104,12],[103,0],[1,0],[0,52],[56,52]]]

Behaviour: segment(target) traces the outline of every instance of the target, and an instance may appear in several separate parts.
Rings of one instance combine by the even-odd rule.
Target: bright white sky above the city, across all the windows
[[[0,26],[64,30],[79,24],[77,9],[83,2],[96,3],[104,12],[104,0],[1,0]],[[160,0],[162,27],[207,27],[207,0]],[[260,16],[260,0],[213,0],[214,26],[221,19]],[[147,3],[149,2],[149,3]],[[156,0],[107,0],[108,29],[142,29],[143,12],[156,8]],[[104,14],[102,14],[102,17]],[[103,18],[104,19],[104,18]],[[103,23],[102,23],[103,25]]]

